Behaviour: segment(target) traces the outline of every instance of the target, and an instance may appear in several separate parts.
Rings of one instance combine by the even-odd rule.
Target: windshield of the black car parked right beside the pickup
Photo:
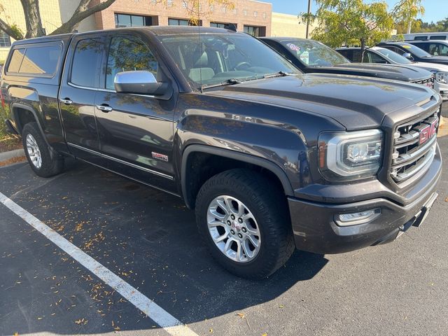
[[[339,52],[317,41],[290,40],[281,41],[281,44],[306,66],[335,66],[350,63]]]

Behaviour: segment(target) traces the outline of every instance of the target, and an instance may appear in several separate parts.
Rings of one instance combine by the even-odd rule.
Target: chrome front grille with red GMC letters
[[[430,165],[435,155],[438,111],[396,127],[393,134],[391,176],[400,184]]]

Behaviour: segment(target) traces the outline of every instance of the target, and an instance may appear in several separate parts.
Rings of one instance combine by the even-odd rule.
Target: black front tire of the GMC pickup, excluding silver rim
[[[232,274],[248,279],[264,279],[290,258],[295,249],[288,204],[283,190],[261,174],[232,169],[213,176],[197,195],[197,227],[211,255]],[[209,204],[218,196],[237,198],[250,209],[258,223],[261,244],[258,254],[248,262],[237,262],[216,246],[207,225]]]

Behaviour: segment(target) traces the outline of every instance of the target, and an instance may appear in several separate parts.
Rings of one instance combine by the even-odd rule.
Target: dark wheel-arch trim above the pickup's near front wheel
[[[286,176],[286,173],[283,172],[283,169],[276,165],[273,162],[270,162],[263,158],[257,158],[256,156],[249,155],[246,153],[240,153],[236,151],[231,151],[224,148],[218,148],[218,147],[211,147],[206,145],[199,145],[199,144],[192,144],[187,146],[182,155],[182,162],[181,162],[181,188],[182,188],[182,197],[184,202],[186,202],[186,205],[189,209],[191,209],[191,203],[190,200],[188,200],[187,195],[187,186],[186,186],[186,174],[187,174],[187,162],[188,162],[188,156],[191,153],[200,152],[200,153],[207,153],[207,154],[213,154],[222,156],[224,158],[231,158],[233,160],[238,160],[241,162],[250,163],[252,165],[256,165],[262,168],[265,168],[275,174],[277,178],[280,180],[281,185],[283,186],[283,190],[285,191],[285,194],[287,196],[294,196],[294,190],[291,186],[291,183],[288,179],[288,176]]]

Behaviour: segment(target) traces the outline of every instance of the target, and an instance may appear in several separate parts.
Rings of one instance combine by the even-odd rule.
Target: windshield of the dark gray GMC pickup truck
[[[281,55],[246,34],[181,34],[160,41],[195,87],[301,73]]]

